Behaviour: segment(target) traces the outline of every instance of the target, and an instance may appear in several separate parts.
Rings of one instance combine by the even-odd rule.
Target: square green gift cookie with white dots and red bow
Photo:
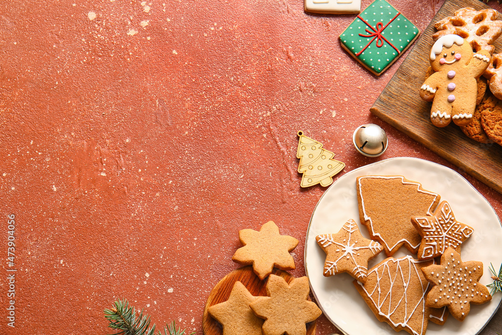
[[[381,75],[420,31],[385,0],[369,5],[340,35],[342,47],[362,66]]]

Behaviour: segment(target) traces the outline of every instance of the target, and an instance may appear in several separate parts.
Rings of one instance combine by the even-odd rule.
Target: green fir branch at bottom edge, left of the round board
[[[144,314],[141,310],[138,317],[136,317],[136,309],[131,306],[127,299],[114,302],[114,306],[111,309],[104,310],[104,317],[108,320],[108,327],[118,330],[115,334],[110,335],[156,335],[155,333],[155,323],[150,328],[151,319],[148,314]],[[169,333],[168,333],[169,331]],[[164,327],[164,335],[185,335],[186,329],[181,329],[178,327],[176,329],[175,321],[171,325],[166,324]],[[159,330],[158,335],[163,335]],[[188,335],[193,335],[192,332]]]

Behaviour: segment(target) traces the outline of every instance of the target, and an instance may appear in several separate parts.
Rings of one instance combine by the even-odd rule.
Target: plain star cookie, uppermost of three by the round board
[[[239,240],[243,247],[237,249],[232,261],[253,264],[253,271],[260,279],[272,273],[274,266],[281,270],[294,270],[295,260],[289,254],[298,245],[298,240],[287,235],[280,235],[274,221],[268,221],[260,232],[252,229],[239,231]]]

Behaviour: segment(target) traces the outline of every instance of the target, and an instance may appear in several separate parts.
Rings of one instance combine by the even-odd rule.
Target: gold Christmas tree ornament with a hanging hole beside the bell
[[[303,173],[301,186],[331,185],[332,177],[345,167],[345,163],[333,159],[334,153],[323,149],[322,143],[303,135],[303,131],[298,132],[298,137],[296,157],[300,159],[298,172]]]

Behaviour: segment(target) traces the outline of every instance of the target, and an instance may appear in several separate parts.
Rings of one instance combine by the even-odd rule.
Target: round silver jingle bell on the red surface
[[[377,125],[367,124],[357,127],[352,136],[355,149],[367,157],[378,157],[387,150],[385,131]]]

